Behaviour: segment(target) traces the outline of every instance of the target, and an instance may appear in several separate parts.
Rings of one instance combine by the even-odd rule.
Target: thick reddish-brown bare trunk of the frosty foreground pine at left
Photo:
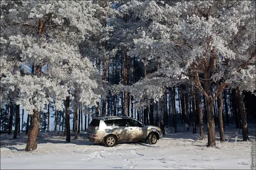
[[[32,124],[31,124],[31,129],[28,133],[28,143],[26,145],[25,151],[33,151],[36,150],[37,148],[37,134],[39,131],[40,127],[40,111],[39,110],[33,110],[33,115],[32,115]]]

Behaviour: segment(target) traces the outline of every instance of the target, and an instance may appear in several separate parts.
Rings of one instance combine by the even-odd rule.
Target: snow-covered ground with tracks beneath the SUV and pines
[[[91,143],[86,132],[66,143],[56,132],[39,133],[38,148],[25,152],[27,136],[1,134],[1,169],[250,169],[252,141],[242,141],[241,130],[233,125],[225,129],[225,143],[220,143],[216,128],[216,148],[209,148],[199,134],[179,127],[157,141],[122,143],[108,148]],[[250,138],[255,141],[255,124],[250,125]]]

